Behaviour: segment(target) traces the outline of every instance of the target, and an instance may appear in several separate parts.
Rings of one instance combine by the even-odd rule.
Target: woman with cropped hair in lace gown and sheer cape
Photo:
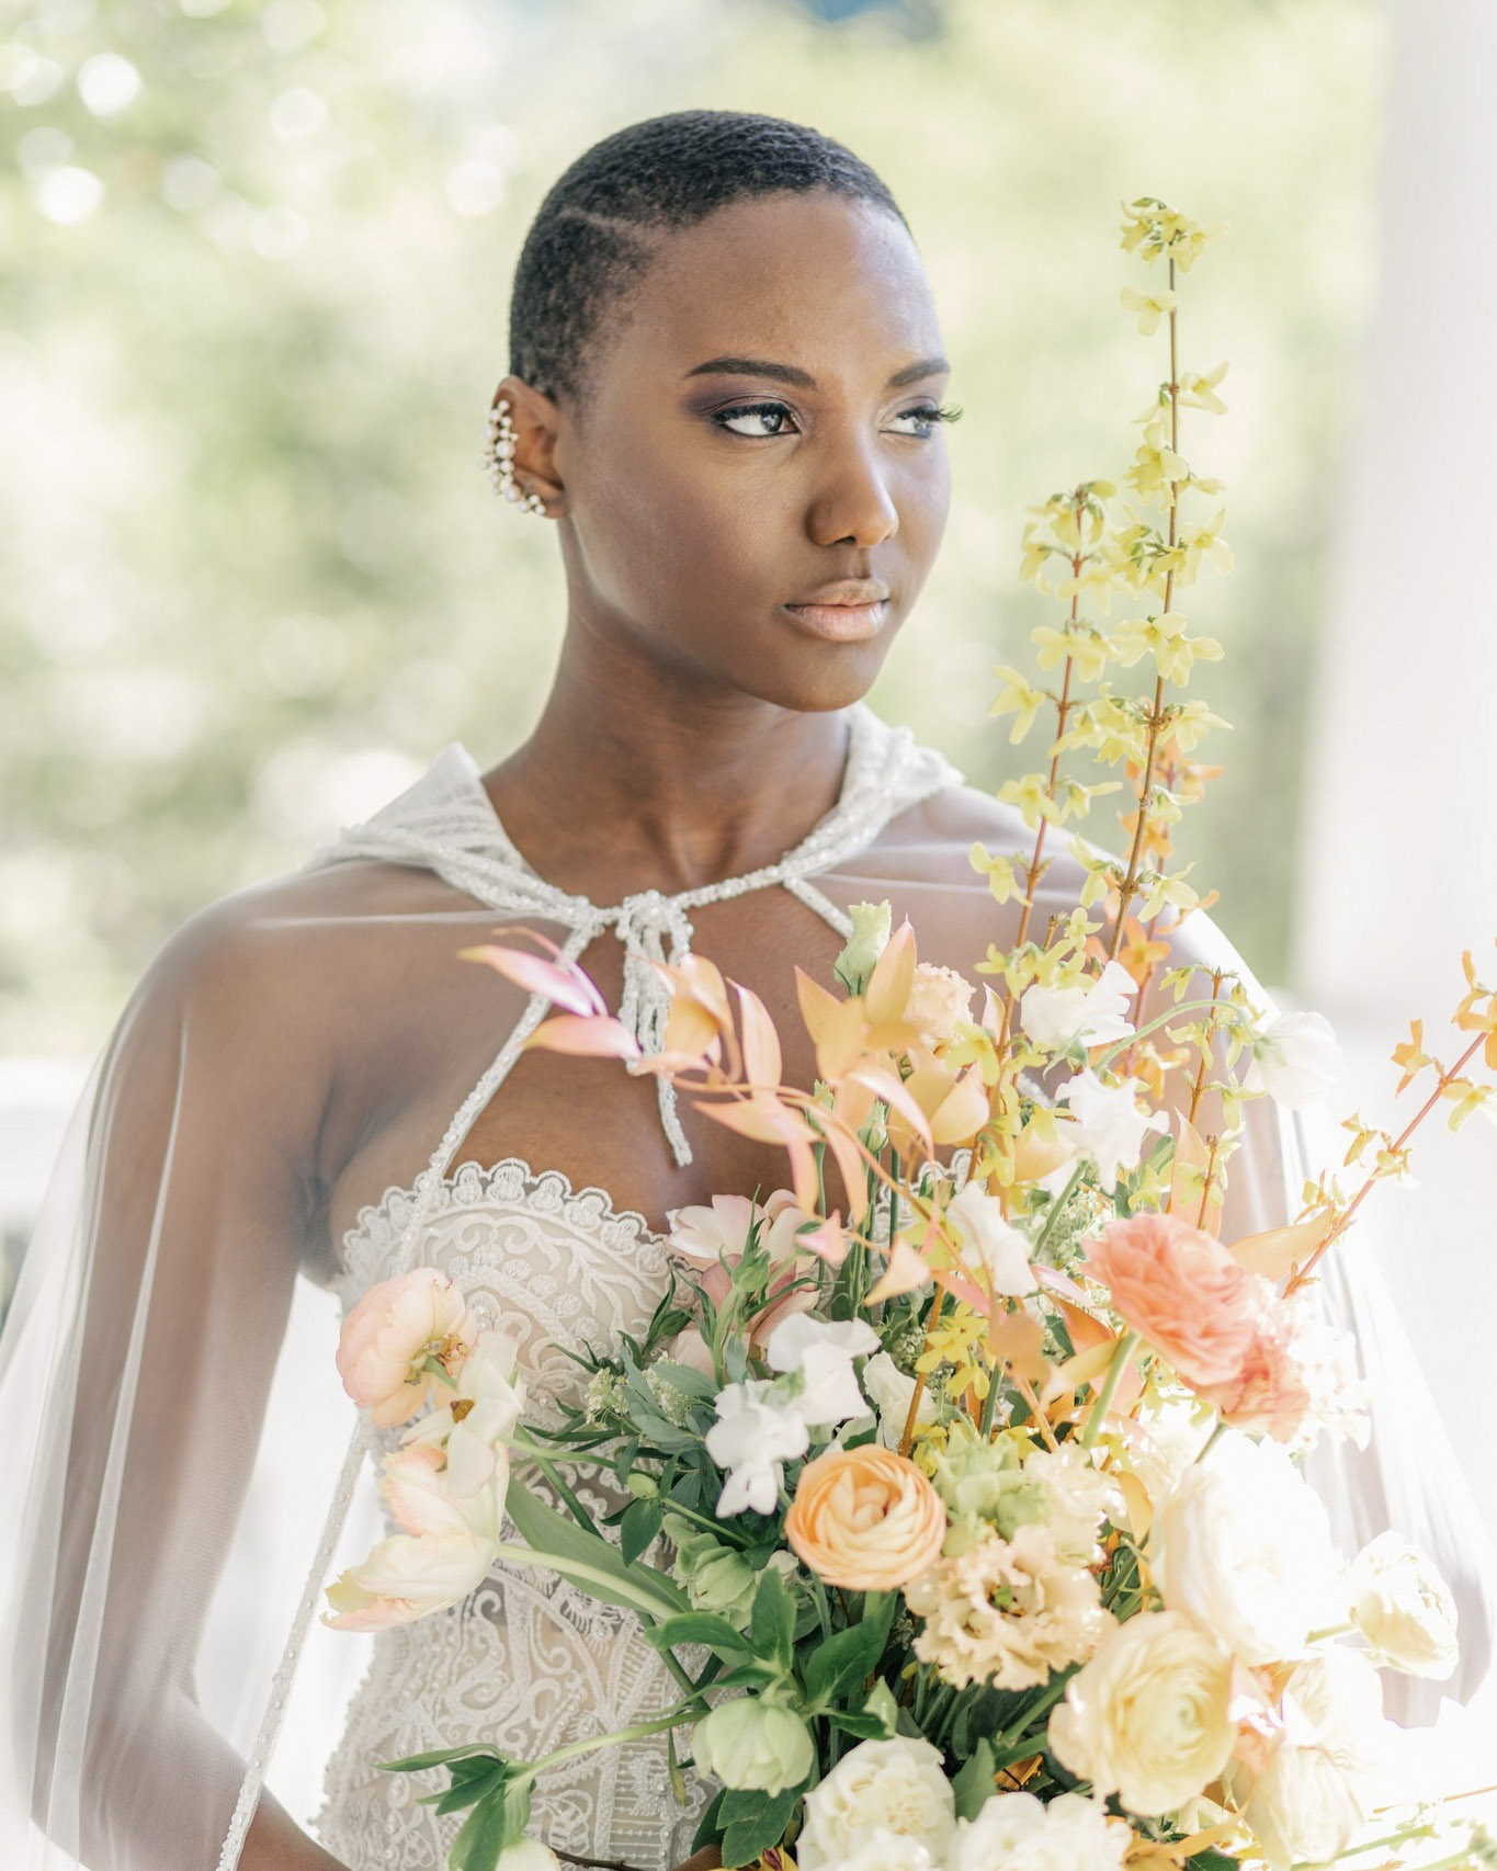
[[[1012,936],[967,853],[1018,849],[1022,821],[861,702],[941,541],[956,413],[930,284],[878,176],[775,118],[636,123],[541,204],[509,337],[492,473],[515,524],[556,526],[567,574],[535,730],[488,771],[453,743],[301,872],[163,947],[22,1265],[0,1340],[19,1529],[0,1549],[7,1865],[438,1867],[458,1817],[417,1794],[445,1777],[376,1762],[468,1740],[533,1757],[674,1701],[629,1617],[498,1568],[374,1639],[316,1762],[311,1830],[266,1785],[309,1632],[346,1641],[314,1613],[350,1504],[371,1497],[365,1429],[318,1388],[333,1342],[307,1358],[288,1332],[305,1282],[346,1312],[378,1280],[442,1267],[520,1334],[545,1414],[580,1396],[569,1353],[644,1328],[674,1209],[784,1181],[780,1153],[649,1080],[522,1052],[545,1003],[460,949],[541,930],[646,1044],[649,958],[698,949],[760,994],[786,1078],[810,1083],[792,964],[825,977],[850,904],[887,896],[924,960],[966,971]],[[1040,913],[1076,887],[1057,864]],[[1241,967],[1205,919],[1179,950]],[[1299,1197],[1295,1138],[1265,1106],[1229,1233]],[[298,1489],[329,1420],[342,1469]],[[1344,1544],[1396,1497],[1461,1588],[1460,1495],[1433,1458],[1415,1476],[1390,1450],[1377,1426],[1336,1463]],[[254,1476],[294,1510],[245,1512]],[[612,1504],[603,1482],[589,1499]],[[659,1545],[642,1559],[666,1562]],[[245,1568],[262,1587],[225,1607]],[[198,1661],[225,1620],[236,1693],[213,1701]],[[662,1734],[580,1753],[539,1783],[531,1832],[576,1864],[666,1871],[709,1785],[687,1770],[681,1792]]]

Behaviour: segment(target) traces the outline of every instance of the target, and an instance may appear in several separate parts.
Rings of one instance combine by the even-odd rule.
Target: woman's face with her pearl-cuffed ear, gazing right
[[[664,236],[578,417],[543,399],[548,468],[516,458],[560,485],[569,627],[780,707],[857,700],[945,528],[945,385],[924,268],[872,202],[758,196]]]

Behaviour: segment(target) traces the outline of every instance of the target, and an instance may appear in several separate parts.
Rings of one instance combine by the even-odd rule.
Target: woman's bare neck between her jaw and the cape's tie
[[[569,631],[535,732],[485,786],[520,853],[593,902],[773,864],[836,803],[846,711],[803,713]]]

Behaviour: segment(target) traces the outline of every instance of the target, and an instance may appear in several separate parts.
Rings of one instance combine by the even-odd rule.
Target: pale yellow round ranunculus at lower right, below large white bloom
[[[1231,1658],[1179,1611],[1115,1624],[1050,1716],[1050,1746],[1098,1792],[1158,1819],[1207,1787],[1231,1755]]]

